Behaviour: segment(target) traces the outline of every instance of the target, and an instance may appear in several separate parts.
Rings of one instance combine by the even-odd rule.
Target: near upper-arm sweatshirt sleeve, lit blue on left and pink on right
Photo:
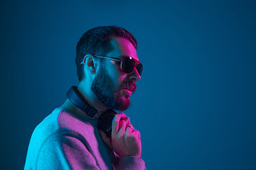
[[[36,166],[41,169],[99,169],[95,158],[78,135],[55,133],[48,137],[38,154]]]

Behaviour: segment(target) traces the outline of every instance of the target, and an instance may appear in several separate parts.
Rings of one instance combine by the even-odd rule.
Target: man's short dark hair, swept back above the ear
[[[78,41],[76,47],[75,64],[77,66],[77,74],[79,81],[85,77],[83,72],[83,65],[81,64],[83,58],[87,54],[105,55],[107,52],[113,50],[109,43],[114,37],[125,38],[132,42],[135,49],[137,49],[137,40],[127,30],[117,26],[98,26],[87,30]]]

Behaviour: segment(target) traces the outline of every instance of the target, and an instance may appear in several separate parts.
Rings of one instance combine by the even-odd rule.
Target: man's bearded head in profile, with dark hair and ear
[[[121,70],[120,61],[130,59],[138,62],[137,42],[127,30],[109,26],[88,30],[78,42],[76,64],[80,82],[91,85],[91,91],[105,106],[124,111],[129,105],[129,96],[136,90],[135,81],[140,79],[136,68],[131,72]],[[82,62],[82,64],[81,64]]]

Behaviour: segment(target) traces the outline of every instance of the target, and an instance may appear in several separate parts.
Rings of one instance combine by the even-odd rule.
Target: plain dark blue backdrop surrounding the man
[[[139,43],[125,111],[147,169],[256,169],[256,1],[0,1],[1,166],[22,169],[33,129],[78,84],[95,26]]]

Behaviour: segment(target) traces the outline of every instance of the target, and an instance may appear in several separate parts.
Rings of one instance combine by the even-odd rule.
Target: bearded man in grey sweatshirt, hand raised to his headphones
[[[82,35],[75,89],[97,113],[67,99],[34,130],[25,169],[146,169],[139,131],[124,113],[114,115],[110,137],[97,125],[110,108],[129,107],[142,74],[136,49],[137,41],[124,28],[97,27]]]

